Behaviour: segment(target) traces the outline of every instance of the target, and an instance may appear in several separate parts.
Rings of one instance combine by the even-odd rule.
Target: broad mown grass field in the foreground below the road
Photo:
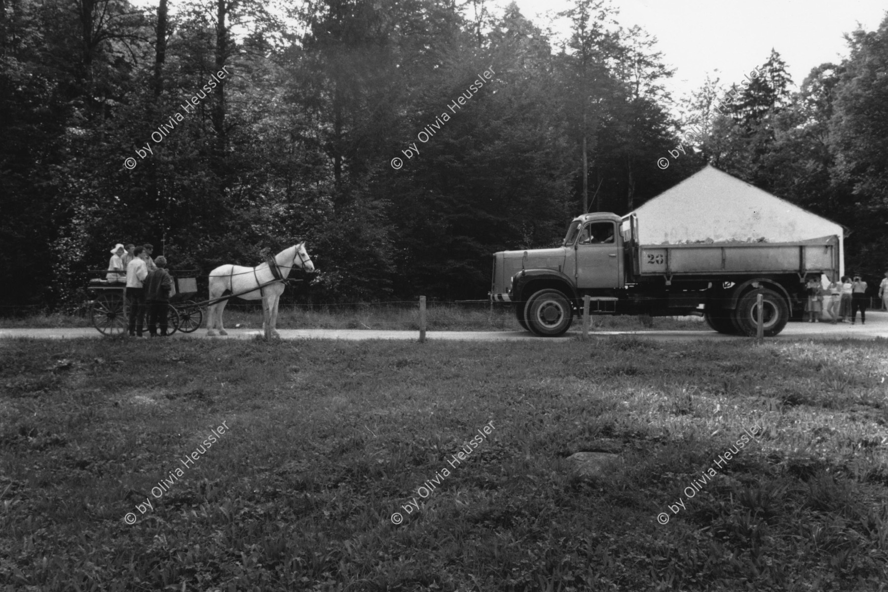
[[[4,340],[0,359],[0,590],[888,588],[884,340]],[[620,461],[580,477],[582,451]]]

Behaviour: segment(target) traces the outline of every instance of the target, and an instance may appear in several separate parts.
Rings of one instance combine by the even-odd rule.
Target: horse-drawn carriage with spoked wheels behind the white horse
[[[170,296],[167,306],[167,333],[176,331],[194,333],[203,322],[203,306],[194,301],[197,294],[197,270],[171,272],[176,294]],[[99,270],[95,273],[107,273]],[[126,304],[126,284],[118,281],[90,280],[86,288],[92,296],[90,317],[92,326],[102,335],[115,336],[126,333],[129,326],[129,307]]]

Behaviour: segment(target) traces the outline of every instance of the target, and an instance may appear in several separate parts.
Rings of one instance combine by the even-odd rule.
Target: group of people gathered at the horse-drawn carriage
[[[111,260],[105,276],[109,282],[125,282],[125,297],[130,308],[129,334],[143,337],[147,313],[148,333],[152,337],[166,337],[167,306],[170,296],[176,293],[170,272],[166,270],[166,257],[152,259],[154,247],[151,244],[123,246],[117,243],[111,249]],[[160,327],[160,334],[157,328]]]

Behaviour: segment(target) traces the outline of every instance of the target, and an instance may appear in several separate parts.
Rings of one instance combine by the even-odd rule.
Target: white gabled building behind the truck
[[[707,166],[635,210],[641,244],[696,241],[808,241],[838,236],[844,275],[844,227]]]

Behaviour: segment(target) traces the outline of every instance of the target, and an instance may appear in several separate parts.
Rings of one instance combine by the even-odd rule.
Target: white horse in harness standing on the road
[[[286,279],[289,270],[301,267],[309,272],[314,271],[314,264],[308,252],[305,251],[305,241],[284,249],[274,256],[274,263],[280,272],[281,278]],[[226,290],[231,290],[238,298],[244,300],[258,300],[262,298],[262,331],[266,327],[271,328],[271,335],[280,337],[275,326],[277,325],[277,306],[283,294],[284,284],[279,281],[265,288],[258,287],[268,281],[274,280],[274,272],[267,263],[256,267],[244,267],[242,265],[220,265],[210,272],[210,302],[217,300]],[[250,290],[250,288],[257,288]],[[227,299],[218,300],[216,304],[210,304],[207,315],[207,335],[228,335],[222,327],[222,311],[225,310]]]

